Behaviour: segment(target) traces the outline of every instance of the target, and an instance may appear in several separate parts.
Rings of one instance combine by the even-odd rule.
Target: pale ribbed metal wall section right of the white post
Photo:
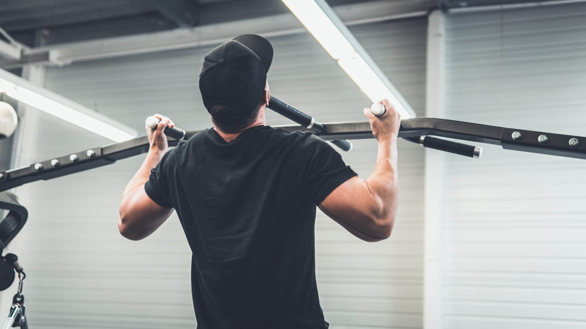
[[[446,22],[447,118],[586,135],[586,5]],[[486,146],[445,168],[444,328],[586,328],[586,162]]]

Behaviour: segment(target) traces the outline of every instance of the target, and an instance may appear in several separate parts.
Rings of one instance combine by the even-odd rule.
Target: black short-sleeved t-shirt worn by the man
[[[206,129],[167,152],[145,191],[189,241],[197,328],[327,328],[315,205],[353,176],[328,142],[270,126],[229,143]]]

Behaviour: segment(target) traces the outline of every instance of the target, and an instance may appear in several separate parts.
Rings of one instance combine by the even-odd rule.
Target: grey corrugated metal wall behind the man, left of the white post
[[[420,115],[426,25],[425,19],[417,19],[352,28]],[[364,119],[362,108],[370,101],[311,36],[271,42],[276,55],[269,83],[275,96],[322,122]],[[171,116],[184,128],[207,128],[211,124],[197,77],[209,49],[51,68],[46,86],[139,131],[154,112]],[[38,143],[28,149],[34,159],[107,143],[40,115]],[[267,121],[289,123],[272,113]],[[362,242],[318,216],[318,287],[326,320],[334,328],[421,327],[424,152],[403,141],[399,148],[400,213],[391,239]],[[343,156],[366,178],[376,159],[376,142],[357,140]],[[117,231],[120,195],[142,159],[19,188],[30,218],[12,251],[27,269],[27,315],[34,327],[195,327],[191,254],[176,215],[143,241],[128,241]],[[2,300],[8,299],[5,294]]]

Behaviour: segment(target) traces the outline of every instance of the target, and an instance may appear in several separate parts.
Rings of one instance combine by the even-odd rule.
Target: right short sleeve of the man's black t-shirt
[[[308,156],[305,189],[311,201],[321,204],[336,187],[357,174],[329,142],[309,133],[306,138],[302,150]]]

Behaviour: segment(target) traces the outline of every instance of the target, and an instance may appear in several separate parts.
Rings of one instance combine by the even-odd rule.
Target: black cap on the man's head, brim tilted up
[[[240,35],[207,53],[199,74],[199,90],[209,112],[230,105],[243,116],[254,111],[263,95],[272,46],[258,35]]]

